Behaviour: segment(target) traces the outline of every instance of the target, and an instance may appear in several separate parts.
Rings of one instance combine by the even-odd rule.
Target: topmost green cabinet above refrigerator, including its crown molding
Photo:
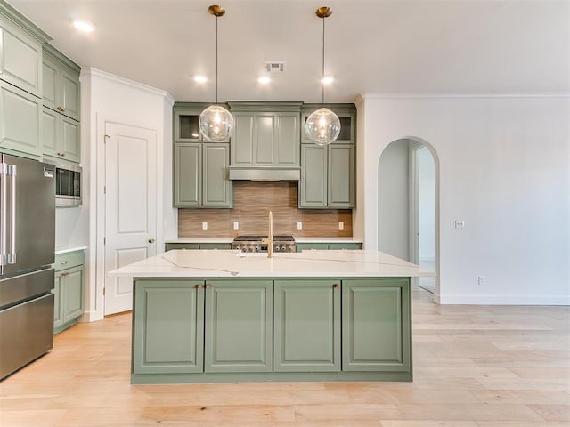
[[[0,80],[42,96],[42,44],[50,37],[5,2],[0,3]]]

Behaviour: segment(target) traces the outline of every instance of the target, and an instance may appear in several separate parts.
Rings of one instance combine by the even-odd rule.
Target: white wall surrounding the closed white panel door
[[[104,122],[140,125],[157,133],[157,200],[163,203],[172,176],[171,151],[172,104],[168,93],[141,85],[122,77],[116,77],[94,68],[83,68],[82,79],[82,127],[84,132],[82,152],[85,176],[84,189],[89,197],[90,221],[87,257],[87,302],[84,320],[103,318],[102,278],[104,277],[104,250],[102,245],[104,205],[102,184],[104,177]],[[86,103],[86,105],[85,105]],[[88,159],[88,163],[87,160]],[[171,191],[170,191],[171,193]],[[169,193],[169,194],[170,194]],[[170,208],[168,208],[170,206]],[[164,205],[157,211],[157,247],[164,246],[165,233],[172,236],[174,209]],[[175,233],[175,231],[174,231]]]

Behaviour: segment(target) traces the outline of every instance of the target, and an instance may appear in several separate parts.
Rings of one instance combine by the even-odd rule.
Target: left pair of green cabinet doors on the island
[[[272,370],[271,280],[138,280],[134,374]]]

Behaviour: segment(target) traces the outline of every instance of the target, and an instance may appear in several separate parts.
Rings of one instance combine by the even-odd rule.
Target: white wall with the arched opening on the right
[[[378,247],[380,154],[417,137],[440,168],[440,302],[570,304],[570,97],[367,93],[357,105],[365,247]]]

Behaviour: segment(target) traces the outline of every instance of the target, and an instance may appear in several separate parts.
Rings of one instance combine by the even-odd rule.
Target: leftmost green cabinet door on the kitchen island
[[[136,281],[134,374],[203,372],[203,287],[203,281]]]

